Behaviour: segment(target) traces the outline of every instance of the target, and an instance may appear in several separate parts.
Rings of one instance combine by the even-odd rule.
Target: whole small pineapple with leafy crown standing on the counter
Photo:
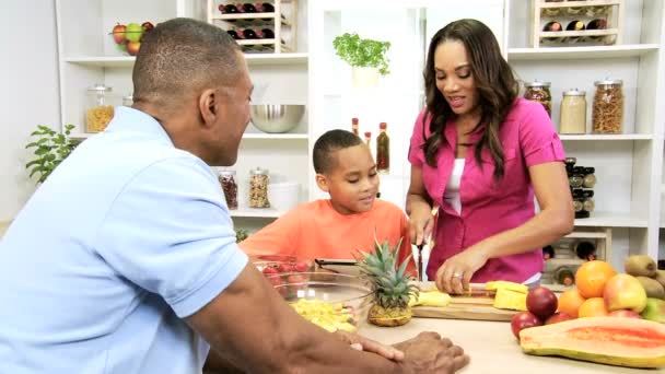
[[[410,274],[406,273],[411,256],[397,268],[401,238],[394,248],[387,241],[380,244],[376,237],[374,243],[374,252],[360,250],[358,259],[361,276],[370,281],[374,294],[368,319],[377,326],[401,326],[411,320],[410,296],[418,299],[418,288],[409,282]]]

